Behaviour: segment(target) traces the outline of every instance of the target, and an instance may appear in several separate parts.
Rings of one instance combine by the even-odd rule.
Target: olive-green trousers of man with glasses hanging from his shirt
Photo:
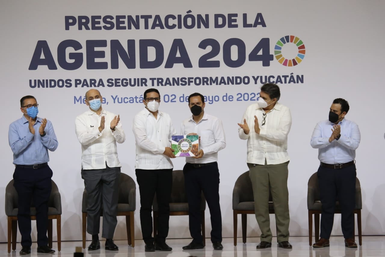
[[[275,221],[277,226],[277,241],[289,240],[289,192],[288,192],[288,164],[259,165],[248,163],[249,176],[253,185],[254,209],[258,226],[261,229],[261,241],[270,242],[272,233],[269,217],[269,191],[273,197]]]

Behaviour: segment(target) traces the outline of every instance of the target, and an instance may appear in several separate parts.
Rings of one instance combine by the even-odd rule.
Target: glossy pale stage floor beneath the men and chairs
[[[356,237],[358,240],[358,238]],[[330,238],[330,247],[324,247],[319,249],[314,249],[309,246],[308,237],[291,237],[290,243],[293,245],[293,249],[280,249],[277,247],[275,242],[276,238],[273,238],[273,246],[269,249],[256,250],[256,245],[259,242],[259,238],[247,238],[247,243],[242,243],[242,238],[238,238],[237,246],[233,244],[233,238],[224,238],[223,239],[223,250],[213,250],[210,239],[206,241],[206,247],[204,249],[184,251],[182,246],[187,245],[191,239],[168,239],[167,243],[170,247],[173,248],[172,252],[144,252],[144,243],[142,240],[135,241],[135,247],[127,245],[126,240],[115,241],[119,246],[119,251],[112,252],[104,250],[104,242],[100,242],[102,249],[96,251],[87,251],[83,250],[84,256],[89,257],[131,257],[131,256],[144,256],[144,257],[188,257],[188,256],[198,256],[198,257],[243,257],[243,256],[261,256],[261,257],[384,257],[385,256],[385,236],[364,236],[362,238],[362,246],[358,248],[347,248],[345,247],[343,237],[331,237]],[[313,238],[314,240],[314,238]],[[90,241],[87,241],[87,246],[90,244]],[[82,242],[72,241],[72,242],[62,242],[62,250],[60,252],[56,251],[55,254],[58,256],[73,256],[75,247],[81,246]],[[37,254],[36,243],[32,245],[31,255],[29,256],[49,256],[51,254]],[[54,249],[57,250],[57,243],[54,243]],[[11,251],[8,254],[7,243],[0,243],[0,256],[19,256],[20,252],[20,243],[17,244],[16,250]]]

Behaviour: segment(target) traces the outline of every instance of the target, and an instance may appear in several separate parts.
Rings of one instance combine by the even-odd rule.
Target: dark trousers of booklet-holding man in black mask
[[[189,228],[192,240],[202,243],[201,191],[210,210],[211,242],[222,242],[222,216],[219,205],[218,163],[194,168],[189,163],[183,167],[184,185],[189,203]]]

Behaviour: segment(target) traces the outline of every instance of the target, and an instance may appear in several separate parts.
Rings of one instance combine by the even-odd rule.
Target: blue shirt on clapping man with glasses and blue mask
[[[48,150],[56,150],[58,142],[49,120],[44,129],[46,135],[40,136],[41,124],[42,118],[37,117],[33,125],[35,135],[29,131],[28,120],[24,115],[9,125],[8,142],[13,152],[13,164],[33,165],[49,162]]]

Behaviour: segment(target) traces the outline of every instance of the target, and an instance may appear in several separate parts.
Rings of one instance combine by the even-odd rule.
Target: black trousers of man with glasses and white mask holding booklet
[[[141,228],[145,243],[154,242],[152,237],[152,202],[156,193],[158,203],[158,231],[156,242],[165,242],[169,231],[172,169],[136,169],[136,181],[141,197]]]

